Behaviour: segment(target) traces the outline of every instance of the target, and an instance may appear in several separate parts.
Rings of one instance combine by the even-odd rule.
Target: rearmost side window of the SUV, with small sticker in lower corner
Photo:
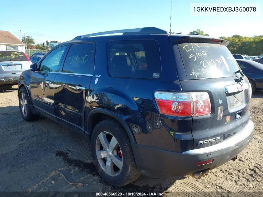
[[[110,76],[142,79],[161,77],[160,52],[156,41],[110,41],[107,49]]]

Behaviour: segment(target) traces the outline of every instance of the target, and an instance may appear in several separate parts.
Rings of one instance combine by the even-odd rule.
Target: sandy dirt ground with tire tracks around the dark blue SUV
[[[238,159],[242,158],[244,162],[228,162],[221,167],[212,170],[206,178],[202,178],[199,181],[192,177],[187,177],[181,180],[176,180],[174,183],[175,179],[172,179],[171,181],[167,181],[167,183],[162,185],[162,191],[169,188],[168,190],[179,191],[183,196],[186,197],[199,197],[204,195],[208,197],[209,195],[204,193],[208,191],[214,191],[216,193],[225,192],[226,194],[228,194],[228,192],[234,192],[240,196],[247,196],[247,192],[250,192],[250,195],[252,195],[251,192],[253,191],[262,191],[263,147],[258,142],[263,141],[263,99],[252,98],[250,110],[251,120],[253,120],[255,124],[255,134],[248,147],[239,154]],[[20,141],[17,143],[16,148],[12,147],[12,151],[11,149],[9,152],[6,150],[8,152],[6,154],[1,154],[0,152],[0,166],[6,167],[8,164],[8,170],[2,171],[6,174],[1,174],[0,171],[0,176],[12,181],[12,178],[10,178],[12,177],[12,174],[9,174],[9,171],[12,171],[12,173],[18,171],[19,174],[17,174],[17,180],[21,180],[21,182],[14,181],[14,183],[18,184],[18,186],[14,185],[12,187],[10,184],[5,184],[5,181],[1,180],[0,177],[0,180],[2,181],[1,188],[7,188],[7,190],[16,190],[16,188],[19,188],[23,190],[23,185],[26,185],[26,182],[23,182],[22,177],[31,176],[30,178],[27,178],[27,182],[30,182],[31,186],[27,186],[26,189],[32,188],[34,191],[85,190],[85,187],[74,189],[73,187],[67,185],[63,178],[59,175],[50,175],[51,172],[49,172],[49,170],[52,168],[57,168],[54,170],[61,169],[61,171],[65,173],[65,176],[70,180],[84,183],[87,181],[91,190],[99,190],[100,188],[107,188],[109,191],[115,190],[113,187],[102,181],[99,176],[93,176],[93,172],[90,170],[82,171],[81,167],[74,167],[70,163],[68,164],[67,162],[64,162],[61,157],[55,156],[58,151],[63,151],[68,152],[70,161],[78,162],[81,165],[84,165],[84,163],[87,165],[86,163],[92,161],[91,157],[89,157],[91,153],[89,151],[88,143],[86,142],[85,138],[79,137],[74,133],[74,131],[66,129],[63,126],[54,123],[52,120],[46,120],[44,118],[40,118],[40,120],[35,122],[25,122],[21,118],[19,112],[16,91],[0,93],[0,116],[0,119],[2,119],[0,120],[1,130],[5,130],[4,132],[0,133],[0,148],[5,148],[9,144],[17,143],[18,140]],[[2,143],[2,139],[8,143]],[[40,145],[38,143],[40,143]],[[40,151],[42,148],[38,146],[41,145],[46,150],[43,152],[44,156],[37,160],[40,160],[43,164],[41,167],[35,168],[34,164],[37,161],[34,161],[34,159],[38,158],[37,151]],[[29,150],[26,150],[26,148]],[[1,150],[3,149],[0,149],[0,151]],[[14,151],[17,151],[18,153]],[[23,153],[23,155],[20,155],[20,153]],[[20,159],[16,159],[14,154],[17,154],[17,157],[20,157]],[[32,156],[26,157],[26,154],[32,154]],[[9,157],[14,158],[9,161]],[[7,162],[4,160],[7,160]],[[21,166],[22,163],[25,165]],[[20,169],[16,167],[17,165],[19,165],[19,167],[21,167],[23,170],[19,171]],[[44,168],[43,165],[48,165],[48,167]],[[38,173],[41,179],[37,179],[37,177],[35,177],[35,173]],[[53,184],[53,187],[50,183],[52,179],[56,181],[56,183]],[[149,182],[155,181],[154,179],[148,177],[141,179],[142,180],[135,181],[134,184],[128,185],[126,189],[138,189],[137,185],[144,188],[144,186],[147,186]],[[159,182],[162,182],[163,184],[165,181]],[[254,188],[248,188],[248,184],[253,184]],[[51,187],[53,189],[50,189]],[[120,191],[121,190],[122,189],[120,189]],[[177,193],[169,194],[168,196],[176,194]]]

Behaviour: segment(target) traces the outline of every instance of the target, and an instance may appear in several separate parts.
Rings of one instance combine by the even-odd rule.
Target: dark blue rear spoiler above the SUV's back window
[[[220,44],[225,46],[229,44],[229,41],[227,40],[223,40],[220,38],[211,38],[207,36],[199,36],[199,35],[186,35],[186,36],[170,35],[169,41],[171,44],[181,44],[181,43],[190,43],[190,42],[213,43],[213,44]]]

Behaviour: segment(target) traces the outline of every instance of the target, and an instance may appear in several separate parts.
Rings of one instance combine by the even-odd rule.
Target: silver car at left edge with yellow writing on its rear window
[[[0,51],[0,85],[18,83],[20,74],[31,64],[22,51]]]

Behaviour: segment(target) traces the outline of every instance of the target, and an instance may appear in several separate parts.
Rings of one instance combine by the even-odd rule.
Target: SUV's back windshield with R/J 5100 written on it
[[[183,43],[178,44],[178,48],[189,79],[232,77],[239,70],[225,45]]]

